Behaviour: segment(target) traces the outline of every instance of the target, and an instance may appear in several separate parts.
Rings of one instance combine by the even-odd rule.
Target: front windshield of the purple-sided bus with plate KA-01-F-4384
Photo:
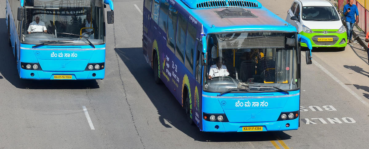
[[[250,86],[275,86],[283,90],[299,88],[296,36],[297,33],[280,32],[210,35],[207,46],[210,60],[204,71],[207,76],[204,91],[224,92],[240,88],[240,82]]]

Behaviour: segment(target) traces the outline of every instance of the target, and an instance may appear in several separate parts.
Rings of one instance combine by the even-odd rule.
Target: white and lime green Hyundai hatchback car
[[[339,47],[345,50],[347,33],[340,15],[327,0],[294,0],[286,21],[310,39],[313,47]],[[306,44],[301,43],[306,47]]]

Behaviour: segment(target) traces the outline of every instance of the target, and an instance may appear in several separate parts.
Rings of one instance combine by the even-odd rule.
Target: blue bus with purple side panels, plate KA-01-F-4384
[[[155,82],[200,131],[299,127],[299,44],[311,64],[311,43],[258,1],[144,0],[142,38]]]

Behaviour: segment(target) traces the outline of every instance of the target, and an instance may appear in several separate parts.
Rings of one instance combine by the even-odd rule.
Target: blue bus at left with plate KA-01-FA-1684
[[[8,43],[22,79],[104,79],[105,4],[111,0],[6,0]]]

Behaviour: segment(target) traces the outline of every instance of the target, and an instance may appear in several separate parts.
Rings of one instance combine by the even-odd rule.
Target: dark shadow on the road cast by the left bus
[[[5,18],[0,18],[1,40],[3,46],[0,54],[0,80],[6,79],[16,88],[20,89],[94,89],[99,88],[96,80],[72,81],[72,80],[26,80],[20,79],[15,66],[13,50],[8,45],[7,26]]]

